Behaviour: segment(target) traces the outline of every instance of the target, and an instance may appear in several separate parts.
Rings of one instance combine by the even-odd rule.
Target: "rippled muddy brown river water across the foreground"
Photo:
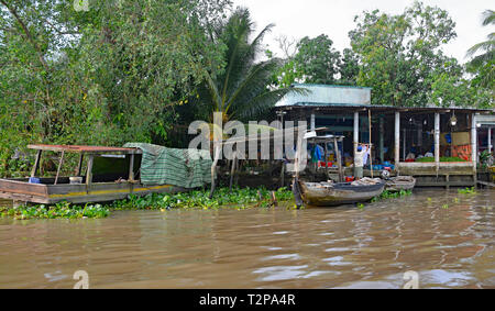
[[[337,208],[0,220],[0,288],[495,288],[495,190]]]

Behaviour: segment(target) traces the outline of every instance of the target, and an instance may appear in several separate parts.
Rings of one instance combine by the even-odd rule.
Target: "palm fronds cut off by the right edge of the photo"
[[[494,25],[495,24],[495,11],[486,10],[482,14],[482,24]],[[474,56],[477,52],[483,51],[483,54]],[[474,71],[484,71],[484,78],[482,86],[493,86],[494,67],[495,67],[495,33],[491,33],[487,36],[487,41],[480,42],[468,49],[466,57],[473,57],[468,63]]]

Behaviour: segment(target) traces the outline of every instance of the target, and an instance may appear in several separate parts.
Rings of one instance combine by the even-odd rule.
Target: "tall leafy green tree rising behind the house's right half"
[[[454,71],[457,64],[441,47],[455,37],[447,11],[415,2],[404,13],[378,10],[355,18],[349,33],[360,55],[358,84],[373,88],[373,103],[425,105],[430,101],[432,75]]]

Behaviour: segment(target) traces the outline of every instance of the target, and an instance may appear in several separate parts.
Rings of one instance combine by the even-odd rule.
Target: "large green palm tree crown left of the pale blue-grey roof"
[[[218,76],[207,75],[199,88],[205,112],[222,112],[224,121],[248,121],[266,112],[287,92],[299,91],[294,88],[268,89],[274,70],[282,64],[277,58],[257,62],[257,56],[263,36],[273,26],[265,26],[250,42],[254,24],[248,9],[238,8],[217,29],[216,37],[226,44],[226,69]]]

